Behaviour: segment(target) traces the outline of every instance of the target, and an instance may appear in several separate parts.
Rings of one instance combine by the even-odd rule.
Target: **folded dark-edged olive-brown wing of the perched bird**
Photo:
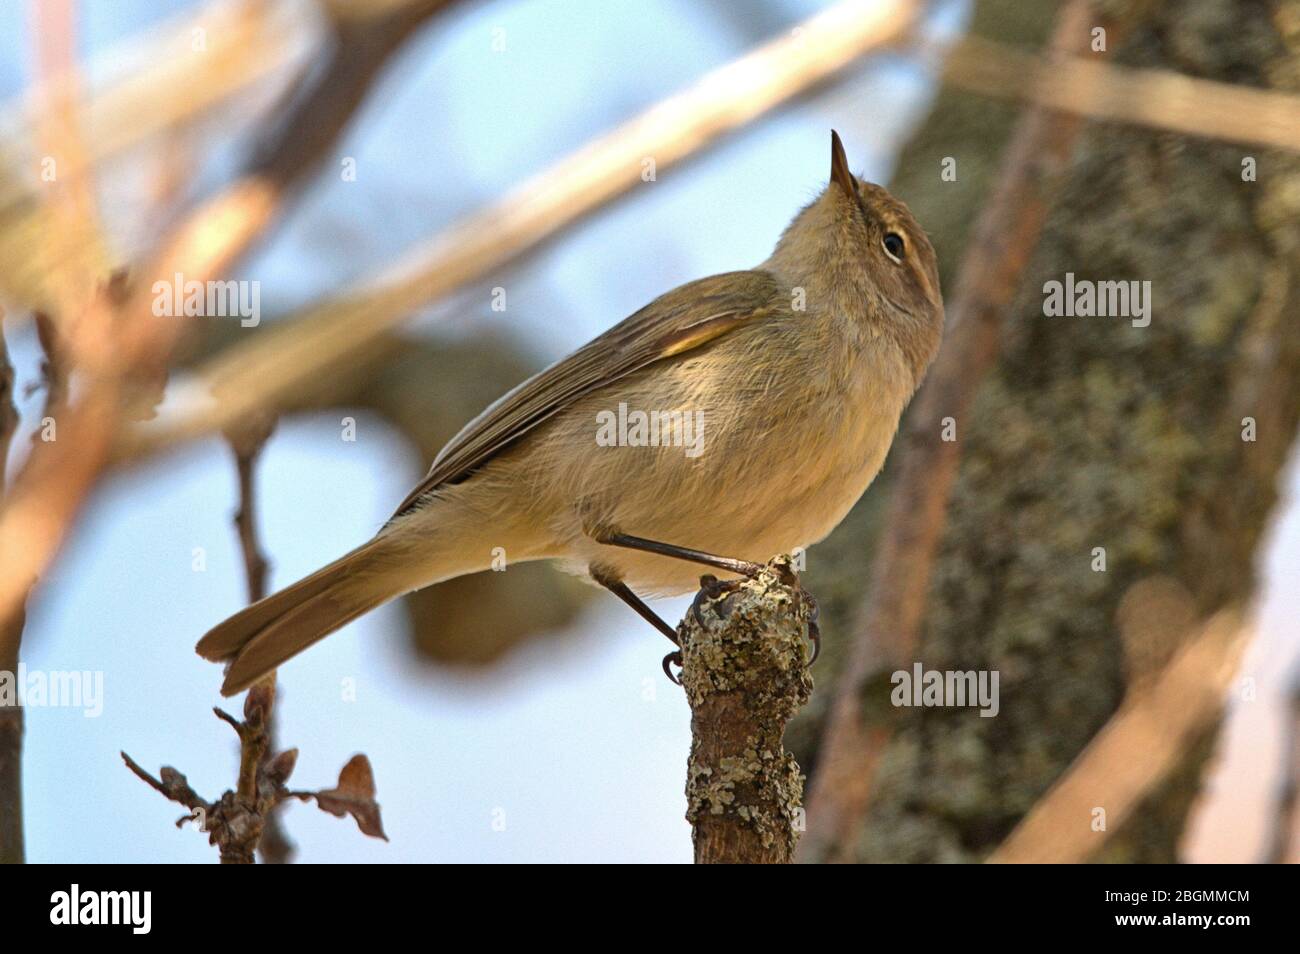
[[[693,351],[776,311],[783,292],[767,272],[729,272],[660,295],[568,357],[494,402],[451,438],[394,517],[429,491],[467,478],[498,451],[578,398],[649,364]]]

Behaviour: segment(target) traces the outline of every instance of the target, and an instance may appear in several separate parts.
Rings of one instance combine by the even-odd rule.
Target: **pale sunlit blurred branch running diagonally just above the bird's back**
[[[313,378],[355,360],[415,309],[500,268],[725,133],[824,82],[863,53],[898,40],[918,10],[907,0],[846,0],[790,35],[710,73],[692,88],[589,143],[502,200],[462,220],[372,282],[312,307],[199,372],[218,402],[165,416],[135,433],[120,458],[220,430],[255,408],[276,408]]]

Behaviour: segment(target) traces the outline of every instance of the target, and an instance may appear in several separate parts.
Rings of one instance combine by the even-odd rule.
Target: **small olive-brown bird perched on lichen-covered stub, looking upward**
[[[692,563],[751,574],[835,529],[880,471],[942,325],[926,233],[849,172],[832,133],[831,182],[767,261],[670,291],[506,394],[373,539],[198,651],[230,663],[230,695],[377,606],[502,556],[558,560],[676,642],[641,595],[694,590]]]

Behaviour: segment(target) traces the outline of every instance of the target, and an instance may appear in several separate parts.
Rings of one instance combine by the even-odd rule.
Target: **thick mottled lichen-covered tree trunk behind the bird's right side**
[[[1130,18],[1128,39],[1112,51],[1117,62],[1300,88],[1294,1],[1171,0],[1117,16]],[[931,201],[949,201],[937,156],[956,156],[961,179],[1001,147],[1000,129],[945,125],[954,100],[966,99],[945,92],[904,156],[901,178],[914,182],[919,168]],[[1256,161],[1256,181],[1243,178],[1245,159]],[[940,221],[900,192],[924,225]],[[940,227],[950,269],[963,237]],[[1149,281],[1150,325],[1045,317],[1044,283],[1066,272]],[[893,742],[849,857],[982,859],[1126,690],[1170,659],[1195,629],[1184,624],[1249,599],[1300,424],[1297,393],[1300,157],[1131,127],[1086,130],[1023,276],[998,367],[957,422],[961,473],[922,630],[926,668],[1001,673],[1001,715],[893,708],[888,673],[879,673],[863,693],[880,704],[864,708],[893,724]],[[819,595],[852,590],[849,567],[862,578],[872,533],[863,515],[879,507],[867,500],[832,543],[849,550],[833,560],[842,572],[811,554],[809,585]],[[1104,572],[1093,569],[1096,547]],[[852,598],[823,599],[832,646],[853,636],[846,604]],[[1098,859],[1176,860],[1216,737],[1217,725],[1187,749]],[[1100,807],[1104,798],[1098,792]]]

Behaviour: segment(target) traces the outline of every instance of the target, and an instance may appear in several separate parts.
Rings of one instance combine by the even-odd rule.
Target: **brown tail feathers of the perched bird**
[[[391,572],[393,567],[391,541],[376,537],[237,612],[195,649],[205,659],[230,663],[222,695],[240,693],[335,629],[413,589],[404,574]]]

